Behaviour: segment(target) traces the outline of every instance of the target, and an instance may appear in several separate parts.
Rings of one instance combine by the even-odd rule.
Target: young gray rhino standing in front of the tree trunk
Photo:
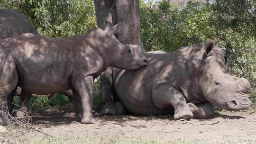
[[[39,95],[71,89],[76,118],[93,123],[93,79],[109,66],[135,70],[147,65],[139,45],[122,45],[113,35],[121,29],[117,24],[69,38],[29,33],[0,40],[0,124],[10,124],[6,101],[17,86]]]

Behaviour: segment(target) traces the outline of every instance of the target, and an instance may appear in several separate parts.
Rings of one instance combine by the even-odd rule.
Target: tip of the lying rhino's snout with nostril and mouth
[[[251,101],[247,96],[234,97],[228,101],[228,110],[245,110],[250,108]]]

